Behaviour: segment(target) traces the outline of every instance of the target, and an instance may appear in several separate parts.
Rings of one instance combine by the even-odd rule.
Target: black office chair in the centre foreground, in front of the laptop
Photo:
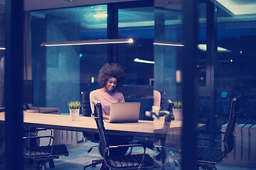
[[[154,162],[149,154],[146,154],[146,147],[141,144],[132,144],[132,145],[109,145],[107,134],[105,131],[105,126],[103,123],[102,117],[102,106],[101,103],[97,101],[92,101],[95,106],[95,122],[97,124],[97,129],[100,134],[100,145],[99,152],[100,155],[104,158],[105,163],[111,169],[150,169],[159,167],[159,164]],[[122,147],[143,147],[143,154],[126,154],[126,155],[112,155],[110,149],[112,148],[122,148]]]

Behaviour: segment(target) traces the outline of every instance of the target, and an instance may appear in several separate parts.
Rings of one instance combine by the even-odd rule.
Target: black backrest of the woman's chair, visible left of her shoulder
[[[90,91],[81,92],[82,115],[91,116],[92,110],[90,107]]]

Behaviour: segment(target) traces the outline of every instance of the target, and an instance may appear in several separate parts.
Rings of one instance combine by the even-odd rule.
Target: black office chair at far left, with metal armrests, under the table
[[[28,146],[24,145],[23,155],[24,157],[30,159],[31,162],[36,163],[36,169],[45,170],[46,163],[49,163],[50,169],[54,168],[53,159],[58,159],[60,156],[68,157],[68,149],[65,145],[52,145],[54,142],[54,138],[51,135],[49,136],[36,136],[38,131],[41,130],[48,130],[48,129],[38,129],[36,130],[35,136],[23,137],[24,144],[28,143]],[[29,145],[31,140],[38,140],[40,138],[49,138],[49,143],[46,146],[36,146],[36,145]],[[29,142],[25,142],[29,140]]]

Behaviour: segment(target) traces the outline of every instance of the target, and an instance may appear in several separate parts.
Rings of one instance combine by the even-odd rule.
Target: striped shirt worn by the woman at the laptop
[[[124,95],[118,91],[113,91],[111,94],[97,89],[90,92],[90,106],[92,113],[94,113],[93,100],[99,101],[102,105],[103,115],[110,115],[110,103],[124,103]]]

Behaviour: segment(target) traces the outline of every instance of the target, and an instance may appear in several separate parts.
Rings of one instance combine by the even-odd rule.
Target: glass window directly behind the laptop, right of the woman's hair
[[[132,38],[129,45],[118,45],[119,64],[125,68],[127,81],[122,88],[126,101],[141,102],[139,119],[153,106],[154,79],[154,7],[121,8],[118,11],[118,38]],[[144,60],[144,62],[141,62]]]

